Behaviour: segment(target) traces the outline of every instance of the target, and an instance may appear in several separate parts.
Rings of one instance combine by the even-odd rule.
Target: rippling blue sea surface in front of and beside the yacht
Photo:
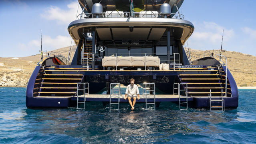
[[[86,110],[28,109],[26,88],[0,88],[0,143],[186,143],[255,144],[256,90],[239,90],[236,110],[178,110],[163,103],[153,110],[128,104],[109,112],[87,102]]]

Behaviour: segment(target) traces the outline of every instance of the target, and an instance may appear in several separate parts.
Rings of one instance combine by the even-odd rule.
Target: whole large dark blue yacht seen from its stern
[[[82,13],[68,31],[73,59],[48,54],[34,69],[26,106],[76,107],[86,102],[127,102],[121,85],[131,78],[142,88],[137,102],[179,109],[238,107],[238,88],[226,57],[191,61],[183,45],[194,25],[179,12],[183,0],[78,0]],[[99,93],[105,90],[105,93]]]

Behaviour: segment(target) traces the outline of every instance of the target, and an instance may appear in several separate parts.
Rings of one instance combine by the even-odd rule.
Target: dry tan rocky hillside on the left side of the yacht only
[[[57,54],[65,57],[69,55],[69,48],[59,48],[54,50]],[[73,46],[71,60],[77,46]],[[52,54],[55,54],[52,52]],[[20,58],[1,58],[0,57],[0,86],[4,87],[26,87],[28,80],[41,60],[41,55],[20,57]]]

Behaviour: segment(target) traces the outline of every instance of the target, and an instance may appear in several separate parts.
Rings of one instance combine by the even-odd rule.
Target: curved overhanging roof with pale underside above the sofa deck
[[[129,26],[133,26],[130,32]],[[183,44],[194,31],[194,25],[174,18],[87,18],[69,24],[68,31],[78,44],[83,32],[96,29],[101,40],[159,40],[166,28],[172,28],[175,39]]]

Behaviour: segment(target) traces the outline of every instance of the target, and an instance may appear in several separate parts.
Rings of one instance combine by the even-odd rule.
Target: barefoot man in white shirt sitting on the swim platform
[[[126,88],[126,92],[125,92],[125,100],[127,98],[127,94],[128,94],[128,101],[129,104],[131,105],[131,110],[134,110],[134,105],[136,103],[136,98],[138,96],[138,100],[139,98],[139,88],[136,84],[134,84],[135,80],[133,78],[131,78],[130,80],[131,84],[129,84]],[[131,103],[131,98],[133,98],[133,103]]]

